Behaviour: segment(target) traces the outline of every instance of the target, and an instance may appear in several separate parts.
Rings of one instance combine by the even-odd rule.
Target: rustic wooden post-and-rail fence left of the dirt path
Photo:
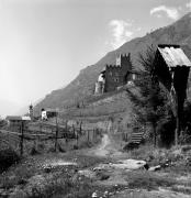
[[[68,140],[76,140],[76,146],[78,147],[79,138],[81,135],[86,136],[87,142],[90,142],[100,134],[100,130],[98,129],[83,130],[82,122],[72,127],[67,125],[67,123],[60,125],[57,122],[37,122],[29,124],[22,122],[15,131],[10,131],[9,129],[0,130],[0,140],[1,142],[3,141],[10,144],[11,147],[19,150],[21,155],[23,155],[24,152],[25,141],[42,142],[50,140],[54,141],[54,148],[57,151],[58,140],[60,139],[65,139],[65,142],[68,142]]]

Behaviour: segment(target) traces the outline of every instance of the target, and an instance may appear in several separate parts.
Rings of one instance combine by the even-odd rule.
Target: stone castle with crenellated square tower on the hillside
[[[135,78],[132,72],[131,54],[120,54],[116,65],[106,65],[96,82],[94,94],[100,95],[116,90]]]

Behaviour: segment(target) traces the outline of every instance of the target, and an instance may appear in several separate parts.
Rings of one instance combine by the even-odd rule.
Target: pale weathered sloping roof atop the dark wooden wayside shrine
[[[191,62],[179,46],[159,45],[158,51],[167,63],[168,67],[188,66]]]

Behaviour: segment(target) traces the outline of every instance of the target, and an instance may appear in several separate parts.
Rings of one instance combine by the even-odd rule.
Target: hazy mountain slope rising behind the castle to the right
[[[123,44],[116,51],[108,53],[97,64],[82,69],[78,77],[67,87],[54,90],[45,97],[36,109],[42,107],[63,108],[76,105],[78,101],[93,94],[94,82],[99,73],[105,64],[114,64],[119,54],[131,53],[132,62],[135,68],[139,67],[137,63],[138,53],[143,53],[150,44],[180,44],[184,47],[189,58],[191,58],[191,13],[188,13],[177,22],[166,28],[158,29],[143,37],[134,38]]]

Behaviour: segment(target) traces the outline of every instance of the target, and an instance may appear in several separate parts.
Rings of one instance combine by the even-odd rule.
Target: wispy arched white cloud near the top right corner
[[[153,14],[157,14],[157,16],[161,15],[161,14],[158,15],[158,12],[166,12],[167,16],[172,20],[177,20],[179,18],[179,11],[176,8],[159,6],[150,10],[150,15]]]

